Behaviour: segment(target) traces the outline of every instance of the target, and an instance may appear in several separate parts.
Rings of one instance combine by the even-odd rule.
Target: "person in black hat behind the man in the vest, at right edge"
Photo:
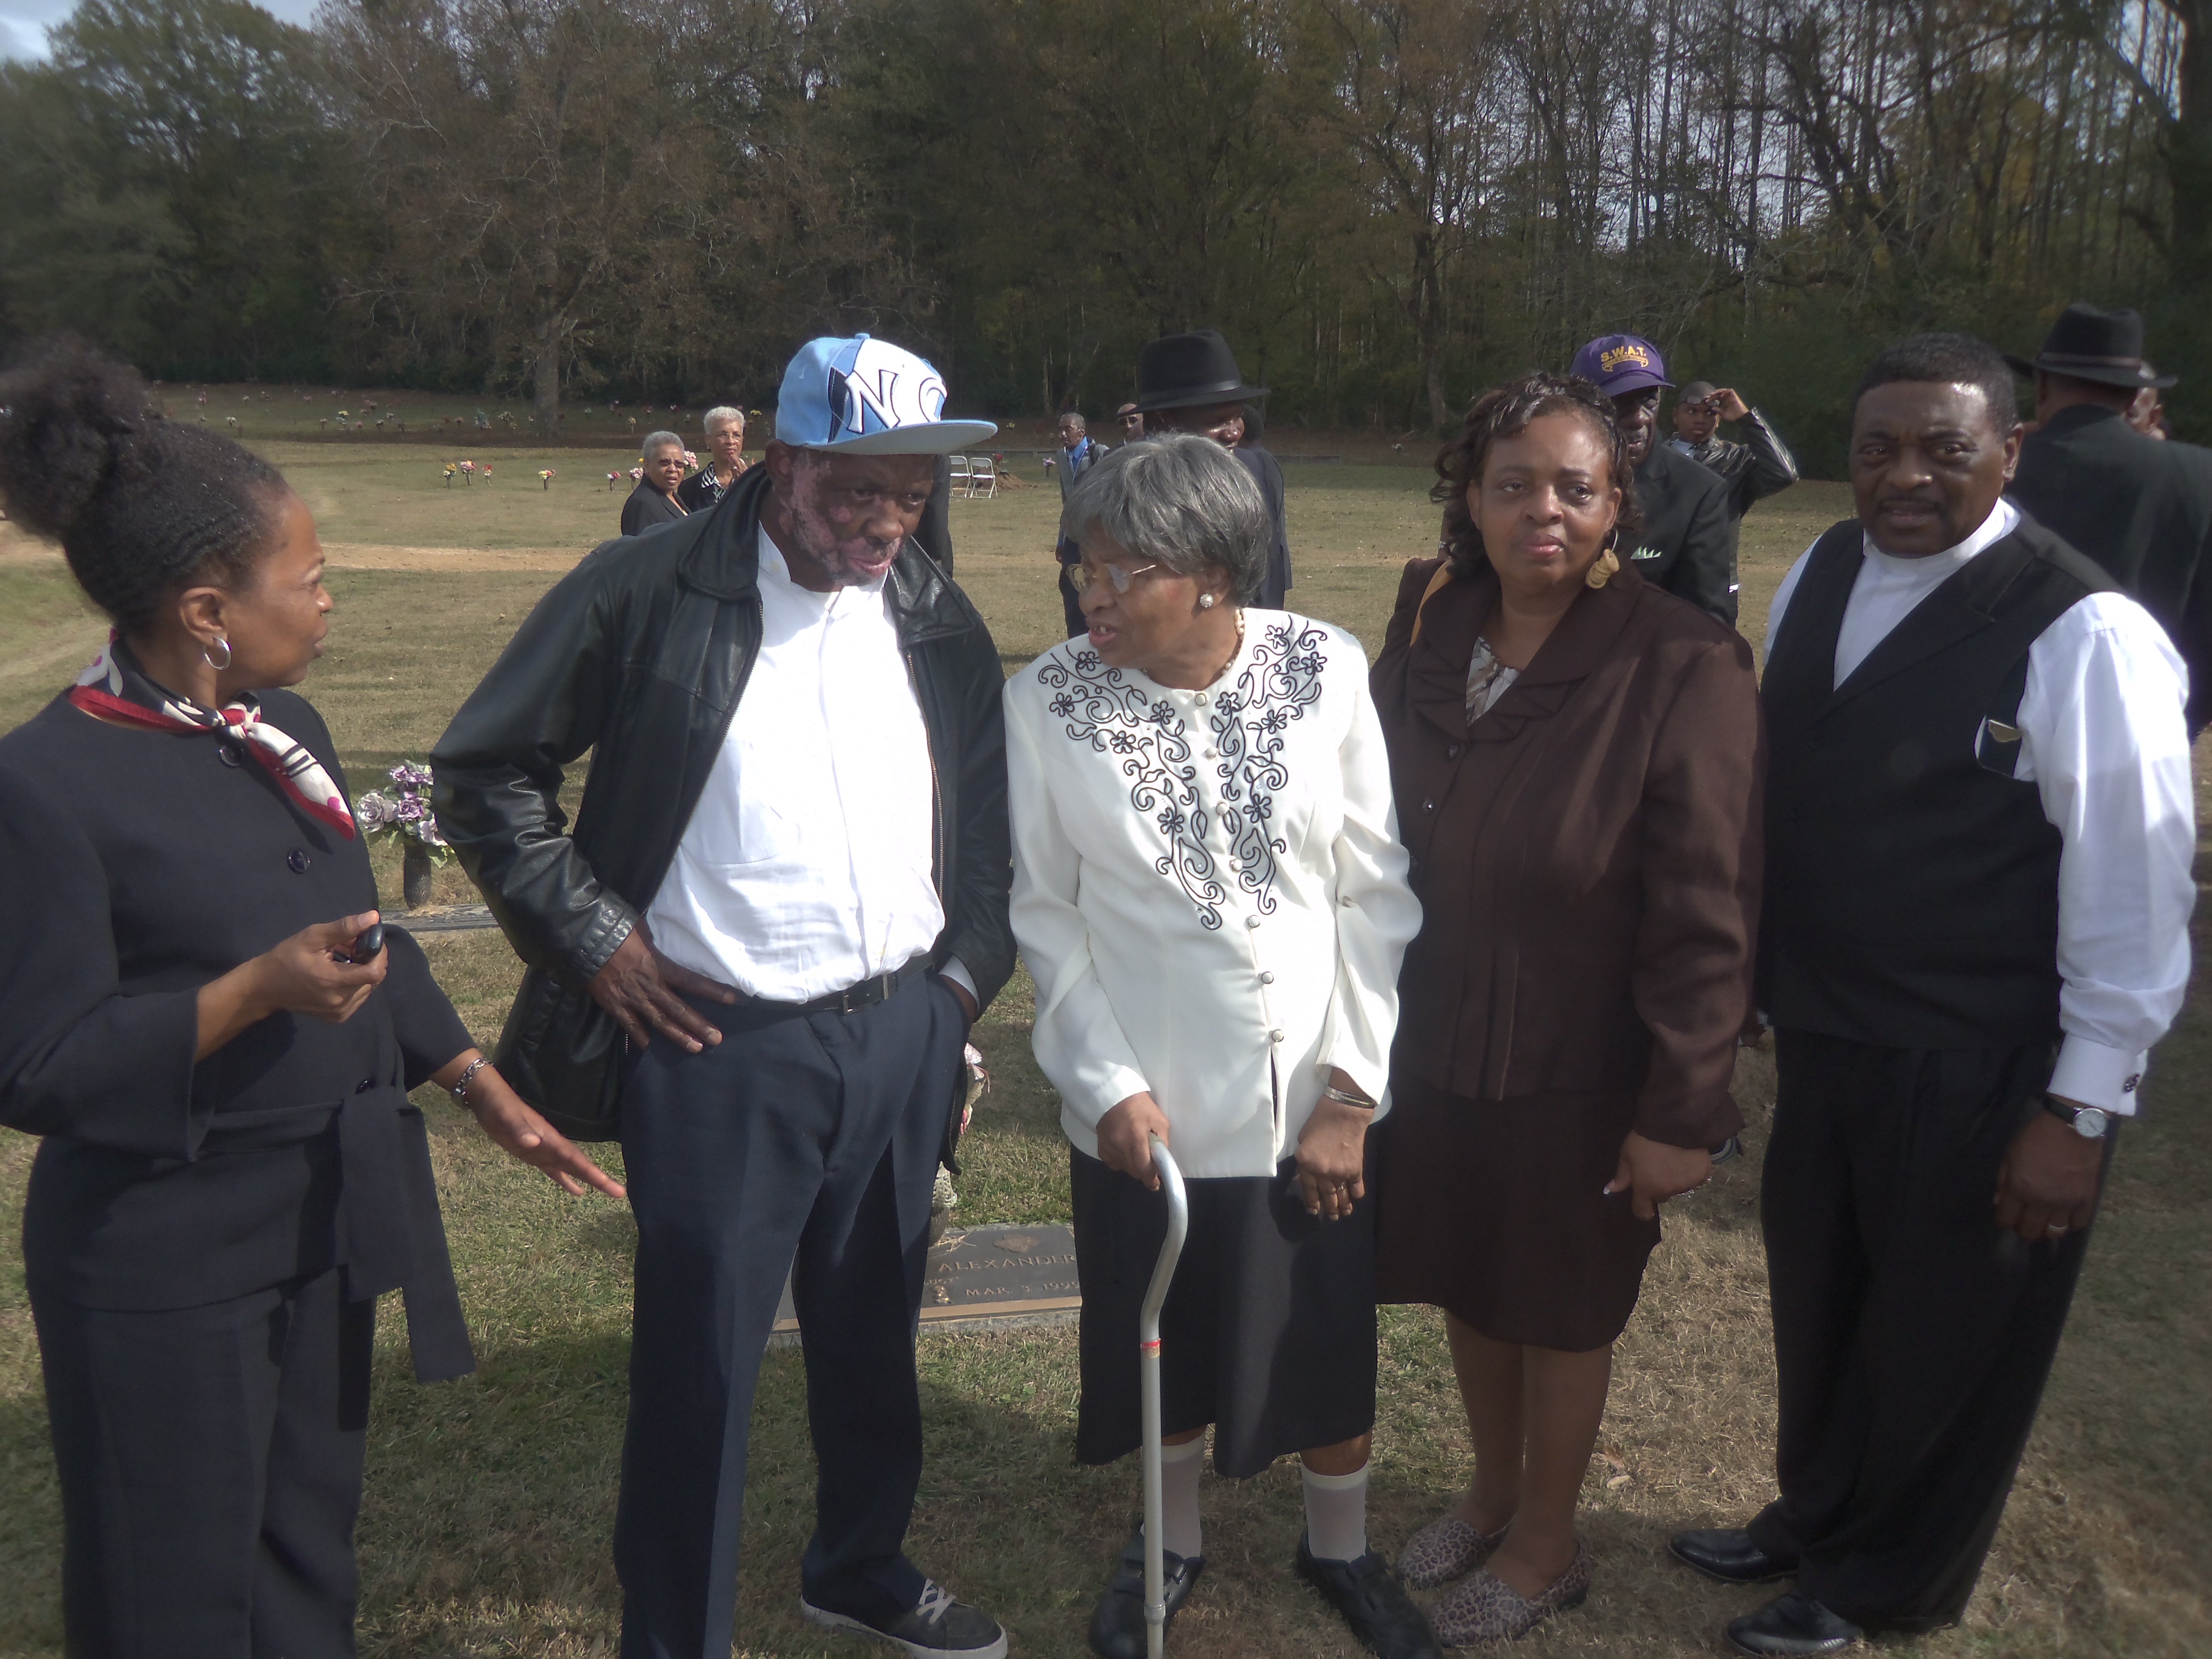
[[[2143,319],[2068,305],[2033,358],[2037,429],[2011,495],[2088,553],[2163,624],[2190,666],[2190,737],[2212,721],[2212,451],[2157,442],[2128,422],[2174,376],[2143,361]]]

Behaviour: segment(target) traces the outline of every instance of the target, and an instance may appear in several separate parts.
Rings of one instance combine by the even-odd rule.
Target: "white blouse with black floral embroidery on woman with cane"
[[[1060,1124],[1150,1093],[1186,1175],[1274,1175],[1332,1066],[1389,1102],[1398,960],[1420,927],[1367,653],[1245,611],[1206,690],[1084,639],[1006,681],[1013,933]]]

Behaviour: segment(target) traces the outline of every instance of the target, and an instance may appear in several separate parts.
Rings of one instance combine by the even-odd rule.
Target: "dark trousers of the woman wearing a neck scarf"
[[[33,1285],[71,1659],[354,1652],[376,1303],[325,1272],[111,1312]]]

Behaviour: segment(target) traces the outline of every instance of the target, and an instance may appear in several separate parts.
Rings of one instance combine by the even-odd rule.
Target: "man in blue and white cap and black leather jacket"
[[[1013,971],[1004,677],[909,538],[936,458],[993,431],[947,420],[911,352],[810,341],[765,465],[591,553],[431,754],[438,823],[529,962],[502,1073],[622,1139],[624,1659],[728,1659],[785,1274],[821,1467],[801,1613],[916,1657],[1006,1652],[905,1555],[929,1192],[969,1024]]]

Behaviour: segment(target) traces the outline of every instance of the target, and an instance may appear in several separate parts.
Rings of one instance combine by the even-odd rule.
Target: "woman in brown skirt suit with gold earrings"
[[[1422,931],[1376,1135],[1383,1301],[1447,1314],[1475,1478],[1400,1571],[1444,1646],[1590,1584],[1575,1500],[1657,1206],[1741,1128],[1765,768],[1750,646],[1619,568],[1610,405],[1528,376],[1438,456],[1374,668]]]

